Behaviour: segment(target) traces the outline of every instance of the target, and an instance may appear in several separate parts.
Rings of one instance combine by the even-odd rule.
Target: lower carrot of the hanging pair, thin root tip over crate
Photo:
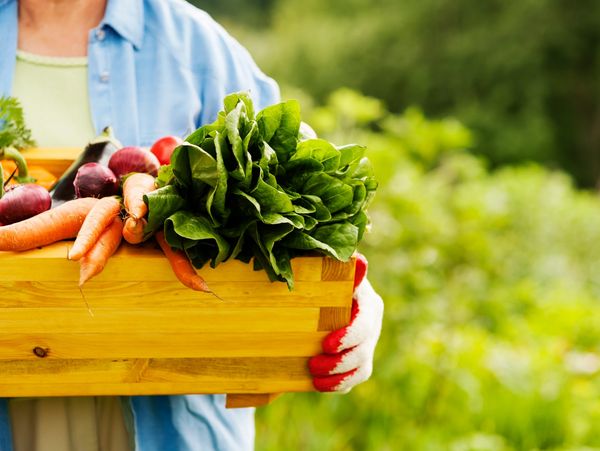
[[[113,217],[112,223],[102,231],[88,253],[81,257],[81,260],[79,260],[80,287],[102,272],[110,256],[115,253],[119,244],[121,244],[122,230],[123,220],[119,215],[116,215]]]

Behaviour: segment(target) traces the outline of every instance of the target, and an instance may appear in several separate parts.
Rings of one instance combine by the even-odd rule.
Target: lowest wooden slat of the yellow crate
[[[83,395],[268,393],[272,388],[307,391],[312,389],[307,360],[251,357],[5,361],[0,396],[63,396],[73,390]]]

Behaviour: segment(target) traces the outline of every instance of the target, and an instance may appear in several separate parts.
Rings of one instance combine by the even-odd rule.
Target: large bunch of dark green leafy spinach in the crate
[[[377,182],[359,145],[299,139],[295,101],[254,114],[249,96],[225,98],[225,110],[186,138],[146,195],[147,232],[164,230],[193,265],[249,261],[293,286],[290,259],[354,253],[368,224]]]

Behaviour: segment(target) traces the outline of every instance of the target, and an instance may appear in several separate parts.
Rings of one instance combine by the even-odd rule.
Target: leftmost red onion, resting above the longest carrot
[[[31,218],[52,205],[50,193],[35,183],[8,188],[0,199],[0,225],[8,225]]]

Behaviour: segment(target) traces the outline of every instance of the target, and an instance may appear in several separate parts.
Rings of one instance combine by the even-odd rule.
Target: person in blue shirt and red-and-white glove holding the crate
[[[125,145],[149,146],[212,122],[225,95],[242,90],[257,108],[279,100],[247,51],[183,0],[0,0],[0,95],[21,100],[41,147],[82,147],[106,125]],[[368,282],[357,293],[352,326],[311,362],[321,390],[370,375],[382,303]],[[247,450],[253,441],[253,410],[226,410],[223,396],[0,403],[2,450]]]

